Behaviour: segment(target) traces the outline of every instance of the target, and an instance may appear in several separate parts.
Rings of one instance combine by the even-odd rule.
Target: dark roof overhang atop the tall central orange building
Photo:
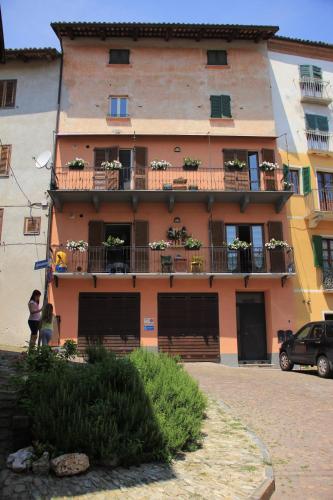
[[[268,40],[278,31],[278,26],[240,24],[182,24],[182,23],[101,23],[55,22],[51,26],[59,39],[69,37],[106,38],[162,38],[200,40]]]

